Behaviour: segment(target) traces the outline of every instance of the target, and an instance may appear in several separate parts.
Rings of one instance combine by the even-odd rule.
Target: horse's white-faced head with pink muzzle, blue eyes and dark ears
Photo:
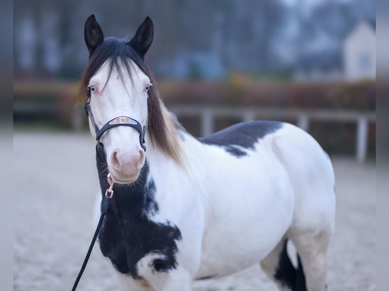
[[[92,135],[96,134],[95,125],[102,129],[106,124],[123,125],[133,123],[133,120],[142,129],[115,126],[100,137],[114,181],[132,183],[145,163],[142,133],[148,124],[148,98],[155,95],[145,60],[153,39],[153,23],[147,17],[131,40],[104,39],[100,25],[91,15],[85,22],[84,33],[89,60],[82,86],[90,92],[88,106],[92,113],[92,117],[89,114]]]

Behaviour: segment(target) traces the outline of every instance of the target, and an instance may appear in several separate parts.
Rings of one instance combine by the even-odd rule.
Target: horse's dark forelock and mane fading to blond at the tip
[[[176,129],[176,123],[171,113],[165,107],[160,99],[158,88],[152,72],[150,71],[146,59],[142,59],[128,45],[128,39],[106,38],[102,44],[89,57],[83,75],[80,80],[80,89],[77,98],[77,104],[84,103],[86,100],[87,86],[90,79],[99,68],[109,60],[109,75],[107,82],[114,68],[117,69],[119,77],[124,82],[124,75],[120,65],[124,65],[132,80],[132,68],[134,62],[146,74],[153,86],[148,91],[148,125],[147,133],[150,135],[153,146],[157,146],[166,155],[170,156],[177,163],[182,164],[182,153],[180,148],[180,139]],[[104,88],[103,88],[104,90]]]

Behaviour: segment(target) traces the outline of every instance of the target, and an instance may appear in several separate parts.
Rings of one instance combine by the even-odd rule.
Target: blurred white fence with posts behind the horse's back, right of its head
[[[311,121],[327,122],[355,122],[356,144],[355,156],[358,161],[365,161],[367,156],[368,125],[375,123],[374,112],[361,113],[352,111],[325,111],[325,110],[276,110],[261,108],[233,108],[233,107],[210,107],[192,105],[171,105],[169,109],[180,116],[198,116],[201,120],[201,135],[208,135],[215,131],[215,119],[217,117],[236,117],[242,121],[254,119],[296,119],[297,125],[309,131]]]

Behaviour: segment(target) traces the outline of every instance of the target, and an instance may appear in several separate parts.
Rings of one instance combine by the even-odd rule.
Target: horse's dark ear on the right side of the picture
[[[154,24],[150,17],[146,17],[143,23],[138,27],[133,39],[129,41],[129,45],[142,57],[149,50],[154,36]]]

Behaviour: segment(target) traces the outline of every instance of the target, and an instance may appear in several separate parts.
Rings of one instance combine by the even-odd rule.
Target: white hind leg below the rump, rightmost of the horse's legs
[[[290,238],[299,254],[308,291],[328,290],[327,248],[332,234],[332,228],[319,232],[291,232]]]

